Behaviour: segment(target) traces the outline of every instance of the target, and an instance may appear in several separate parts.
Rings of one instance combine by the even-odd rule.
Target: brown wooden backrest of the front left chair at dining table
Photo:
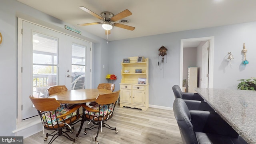
[[[32,95],[30,95],[29,98],[36,110],[39,111],[56,110],[60,106],[60,103],[55,98],[35,98]]]

